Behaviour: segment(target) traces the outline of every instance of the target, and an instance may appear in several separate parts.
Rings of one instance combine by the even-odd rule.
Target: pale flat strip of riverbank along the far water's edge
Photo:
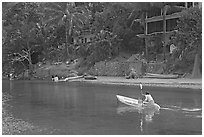
[[[72,81],[81,81],[89,83],[115,84],[115,85],[138,85],[142,83],[144,86],[158,87],[175,87],[175,88],[191,88],[202,89],[202,79],[177,78],[177,79],[156,79],[156,78],[139,78],[126,79],[124,77],[107,77],[99,76],[97,80],[75,79]]]

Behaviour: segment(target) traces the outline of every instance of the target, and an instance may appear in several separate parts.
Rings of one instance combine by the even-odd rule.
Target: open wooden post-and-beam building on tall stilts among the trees
[[[146,58],[148,59],[148,40],[152,35],[163,35],[162,36],[162,44],[163,44],[163,53],[164,60],[166,54],[166,46],[169,41],[169,37],[171,34],[176,31],[174,28],[176,26],[176,21],[181,17],[181,11],[183,9],[198,6],[201,8],[201,2],[178,2],[176,6],[168,6],[165,5],[160,8],[160,13],[151,16],[147,13],[145,14],[144,19],[144,34],[138,34],[137,36],[140,38],[145,38],[145,49],[146,49]],[[176,8],[175,12],[169,12],[169,9]],[[154,13],[154,12],[150,12]],[[136,22],[142,22],[142,19],[136,19]]]

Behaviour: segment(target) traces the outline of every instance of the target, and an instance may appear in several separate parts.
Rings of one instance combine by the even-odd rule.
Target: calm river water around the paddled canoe
[[[194,135],[202,134],[202,93],[196,89],[143,87],[159,112],[138,110],[116,95],[139,98],[139,86],[83,82],[2,81],[16,119],[38,133],[59,135]]]

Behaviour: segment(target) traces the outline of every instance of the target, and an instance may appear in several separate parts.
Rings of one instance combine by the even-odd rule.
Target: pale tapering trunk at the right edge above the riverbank
[[[195,55],[193,72],[192,72],[191,78],[202,78],[202,75],[200,72],[200,63],[199,63],[199,54],[198,53]]]

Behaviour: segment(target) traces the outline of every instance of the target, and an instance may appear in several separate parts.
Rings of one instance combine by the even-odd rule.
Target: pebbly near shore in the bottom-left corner
[[[30,122],[17,119],[9,111],[12,106],[7,101],[10,98],[9,94],[2,93],[2,135],[50,135],[56,132],[53,129],[35,126]]]

